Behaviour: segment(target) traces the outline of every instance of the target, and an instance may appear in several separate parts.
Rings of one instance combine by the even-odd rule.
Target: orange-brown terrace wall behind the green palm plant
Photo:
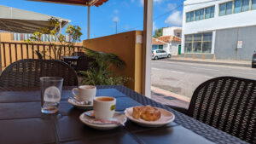
[[[140,37],[143,32],[133,31],[124,32],[107,37],[98,37],[84,40],[83,46],[96,51],[103,51],[118,55],[125,61],[126,66],[122,69],[113,68],[113,71],[120,76],[134,79],[126,86],[142,93],[142,76],[143,76],[143,43]]]

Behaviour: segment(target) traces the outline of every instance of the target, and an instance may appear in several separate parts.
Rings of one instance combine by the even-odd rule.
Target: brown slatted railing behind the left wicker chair
[[[55,49],[62,49],[61,55],[71,55],[73,52],[81,51],[82,46],[62,46],[60,44],[50,45],[49,43],[16,43],[16,42],[1,42],[0,45],[0,65],[2,70],[16,60],[22,59],[38,59],[35,51],[41,53],[43,59],[55,59]]]

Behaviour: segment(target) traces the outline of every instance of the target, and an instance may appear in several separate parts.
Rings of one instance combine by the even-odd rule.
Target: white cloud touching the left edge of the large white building
[[[183,24],[183,15],[180,11],[174,11],[172,14],[168,16],[165,20],[166,24],[181,26]]]

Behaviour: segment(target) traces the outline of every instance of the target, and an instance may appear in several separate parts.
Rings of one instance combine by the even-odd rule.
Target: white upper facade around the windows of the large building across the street
[[[203,3],[207,2],[207,3]],[[256,10],[249,10],[237,14],[218,16],[219,3],[230,2],[230,0],[208,1],[208,0],[187,0],[183,6],[183,35],[182,53],[184,52],[184,35],[201,32],[212,32],[233,27],[256,26]],[[200,3],[200,4],[194,4]],[[215,5],[214,18],[186,22],[186,13]],[[217,47],[216,47],[217,48]]]

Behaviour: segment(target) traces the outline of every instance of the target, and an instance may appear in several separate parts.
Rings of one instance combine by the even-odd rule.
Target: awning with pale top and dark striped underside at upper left
[[[38,31],[40,27],[48,27],[51,17],[61,20],[61,27],[66,26],[70,22],[70,20],[47,14],[38,14],[22,9],[0,6],[0,30],[33,33]]]

